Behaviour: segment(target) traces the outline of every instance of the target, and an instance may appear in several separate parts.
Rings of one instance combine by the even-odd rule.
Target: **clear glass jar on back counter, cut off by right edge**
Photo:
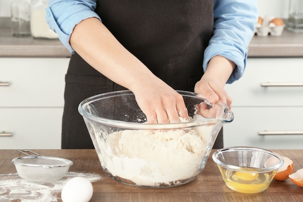
[[[290,0],[288,30],[303,32],[303,0]]]

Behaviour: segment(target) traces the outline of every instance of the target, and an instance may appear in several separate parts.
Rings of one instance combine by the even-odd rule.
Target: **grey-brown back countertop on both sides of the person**
[[[10,27],[0,27],[0,57],[70,57],[59,40],[14,37]],[[303,57],[303,33],[284,29],[281,36],[254,36],[248,57]]]

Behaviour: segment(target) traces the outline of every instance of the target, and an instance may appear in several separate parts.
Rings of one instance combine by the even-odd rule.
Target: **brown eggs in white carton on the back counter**
[[[265,16],[264,18],[258,17],[255,33],[258,36],[281,36],[285,24],[281,18]]]

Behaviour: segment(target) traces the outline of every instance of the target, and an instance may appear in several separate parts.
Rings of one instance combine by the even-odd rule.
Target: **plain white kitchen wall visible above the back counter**
[[[0,17],[9,17],[10,3],[12,0],[0,0]],[[29,0],[30,1],[30,0]],[[260,16],[275,16],[288,18],[290,0],[257,0]]]

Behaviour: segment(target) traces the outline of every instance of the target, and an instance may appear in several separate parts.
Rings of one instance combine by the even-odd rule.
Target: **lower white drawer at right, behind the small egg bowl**
[[[303,107],[234,107],[235,119],[224,127],[224,146],[303,149]],[[302,132],[297,135],[258,135],[259,132]]]

